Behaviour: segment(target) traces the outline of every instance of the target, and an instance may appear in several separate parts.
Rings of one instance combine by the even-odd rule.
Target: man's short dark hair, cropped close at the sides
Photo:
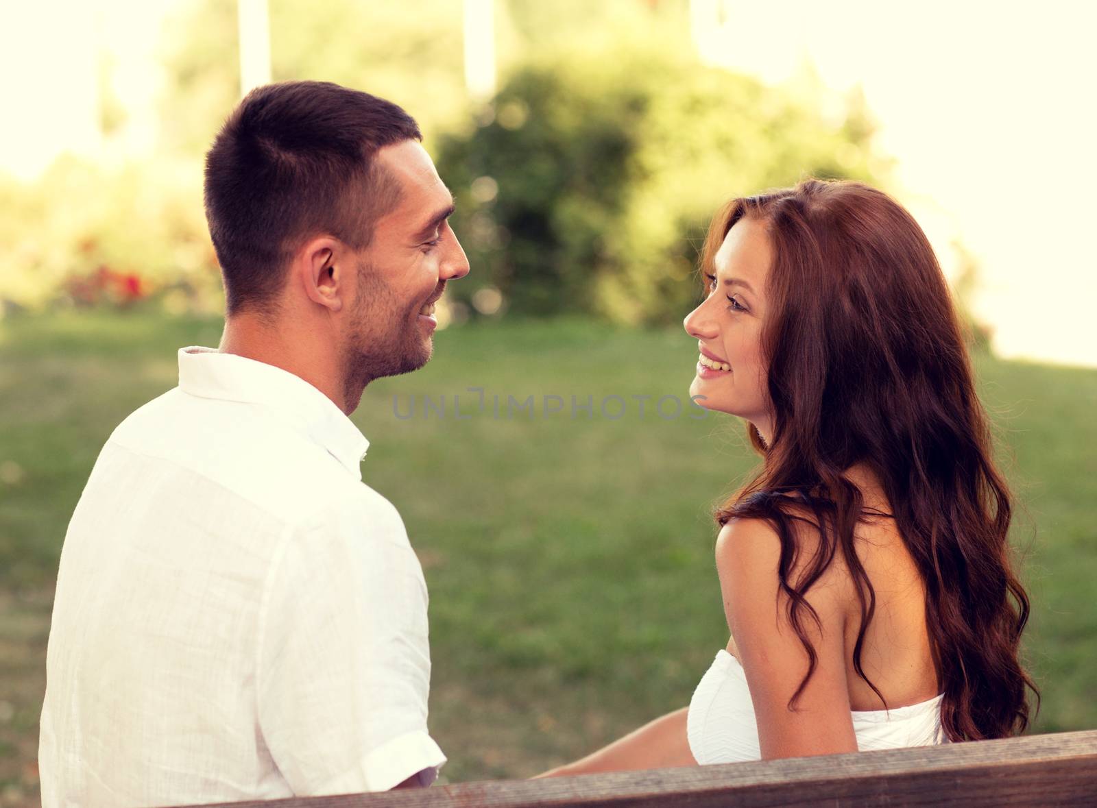
[[[421,140],[396,104],[326,81],[252,90],[206,153],[205,212],[229,315],[269,311],[286,263],[306,239],[330,234],[352,249],[399,202],[377,149]]]

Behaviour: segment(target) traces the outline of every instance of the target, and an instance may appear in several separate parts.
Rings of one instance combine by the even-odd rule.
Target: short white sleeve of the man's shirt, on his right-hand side
[[[287,532],[260,621],[259,728],[295,794],[433,781],[427,585],[387,500],[362,487]]]

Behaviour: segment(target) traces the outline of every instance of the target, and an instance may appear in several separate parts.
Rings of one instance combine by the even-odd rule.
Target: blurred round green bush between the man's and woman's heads
[[[623,34],[583,25],[578,41],[540,45],[478,126],[442,138],[439,170],[478,277],[455,294],[488,283],[521,314],[676,321],[721,203],[807,175],[886,172],[856,94],[824,104],[822,91],[705,68],[685,20],[631,7]]]

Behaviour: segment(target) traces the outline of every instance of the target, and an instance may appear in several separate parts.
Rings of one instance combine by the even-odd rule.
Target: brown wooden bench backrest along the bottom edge
[[[231,803],[235,808],[1097,806],[1097,730],[758,763]],[[208,807],[207,807],[208,808]]]

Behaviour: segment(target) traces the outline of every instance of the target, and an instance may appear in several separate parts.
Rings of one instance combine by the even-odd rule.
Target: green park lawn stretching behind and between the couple
[[[0,321],[0,804],[36,797],[52,589],[91,465],[176,384],[176,350],[219,332],[143,311]],[[688,407],[695,345],[679,331],[504,321],[436,342],[421,372],[367,388],[363,477],[399,509],[430,587],[444,776],[528,776],[689,701],[726,642],[709,510],[756,458],[735,419]],[[1097,371],[976,365],[1018,505],[1036,730],[1094,728]],[[674,398],[656,410],[664,396],[678,417]]]

